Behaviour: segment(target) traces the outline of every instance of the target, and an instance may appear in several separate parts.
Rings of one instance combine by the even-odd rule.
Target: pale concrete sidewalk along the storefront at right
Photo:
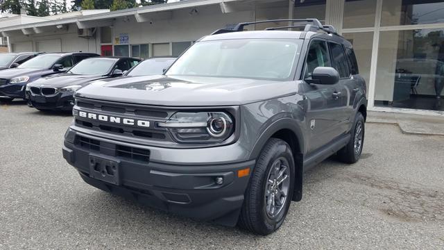
[[[368,111],[367,122],[398,124],[402,133],[444,136],[444,117]]]

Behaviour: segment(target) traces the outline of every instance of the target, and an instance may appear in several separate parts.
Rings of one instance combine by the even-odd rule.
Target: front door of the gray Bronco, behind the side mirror
[[[311,78],[316,67],[332,67],[327,42],[311,40],[305,56],[304,79]],[[309,153],[331,142],[337,135],[341,100],[334,98],[336,85],[309,84],[305,81],[307,99],[307,128],[309,130]]]

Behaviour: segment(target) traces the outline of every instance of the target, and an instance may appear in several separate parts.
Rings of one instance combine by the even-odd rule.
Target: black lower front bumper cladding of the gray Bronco
[[[237,223],[249,178],[238,178],[236,173],[246,167],[253,169],[254,160],[226,165],[172,165],[151,162],[149,154],[149,150],[139,147],[78,135],[72,143],[65,140],[63,148],[64,158],[89,185],[185,217],[225,226]],[[223,178],[223,183],[216,183],[216,178]]]

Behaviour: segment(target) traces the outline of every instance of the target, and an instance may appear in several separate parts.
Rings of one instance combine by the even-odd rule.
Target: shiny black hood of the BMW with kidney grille
[[[56,74],[46,76],[30,83],[31,86],[45,85],[50,88],[63,88],[71,85],[86,85],[89,81],[104,78],[105,76],[98,75],[79,75],[79,74]]]

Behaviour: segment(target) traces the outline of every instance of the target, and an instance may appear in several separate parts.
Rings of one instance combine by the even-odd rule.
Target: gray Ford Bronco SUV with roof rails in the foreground
[[[367,105],[350,42],[317,19],[279,21],[289,26],[215,31],[163,75],[80,88],[64,158],[101,190],[276,231],[302,172],[333,154],[359,160]]]

